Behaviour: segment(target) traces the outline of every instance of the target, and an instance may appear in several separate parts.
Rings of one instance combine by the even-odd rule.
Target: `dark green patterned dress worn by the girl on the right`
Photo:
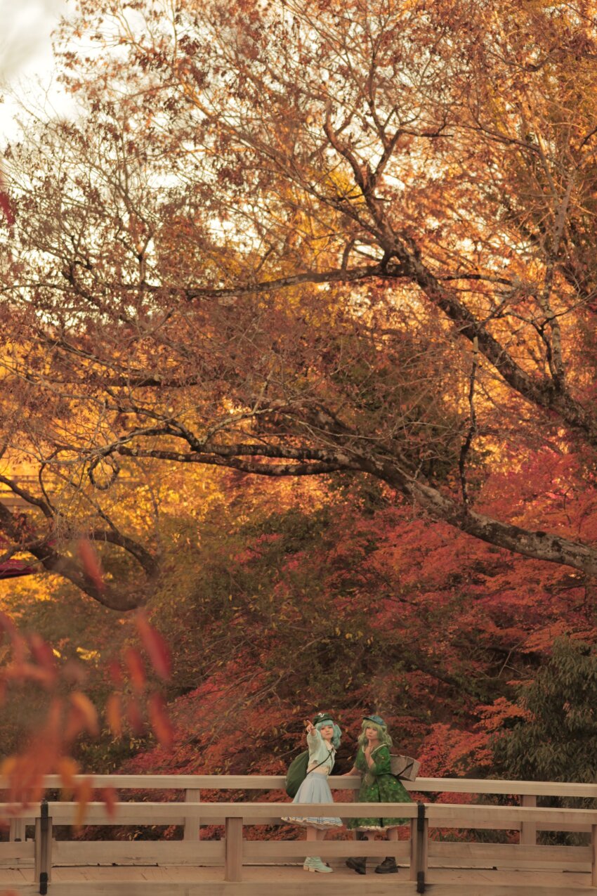
[[[362,774],[359,789],[359,803],[412,803],[402,781],[394,777],[389,766],[389,750],[385,745],[378,746],[371,754],[373,764],[367,765],[362,747],[354,760],[354,767]],[[399,824],[407,824],[407,818],[350,818],[346,822],[348,828],[359,831],[385,831]]]

